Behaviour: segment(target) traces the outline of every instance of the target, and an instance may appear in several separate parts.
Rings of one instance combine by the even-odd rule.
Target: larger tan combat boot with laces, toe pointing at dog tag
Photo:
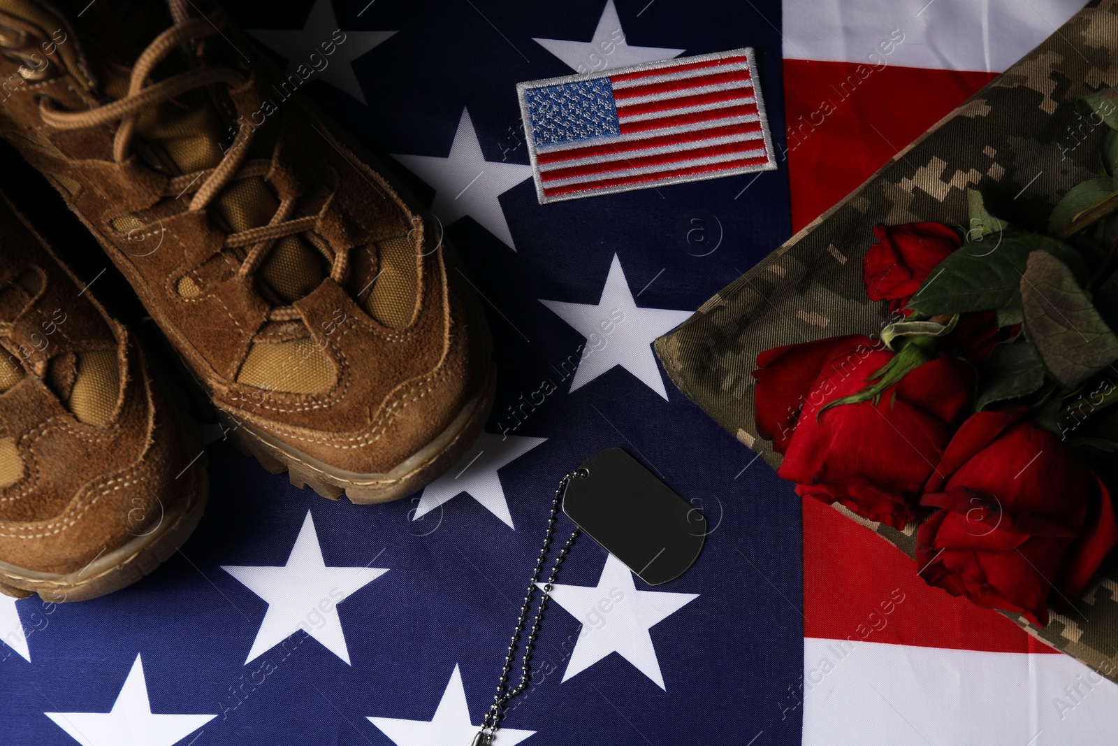
[[[243,450],[325,497],[380,502],[468,447],[493,370],[461,271],[224,12],[0,0],[0,53],[3,136],[97,237]]]

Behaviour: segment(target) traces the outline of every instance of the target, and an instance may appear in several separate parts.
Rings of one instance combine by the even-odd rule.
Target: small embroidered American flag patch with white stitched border
[[[776,168],[751,48],[519,83],[540,204]]]

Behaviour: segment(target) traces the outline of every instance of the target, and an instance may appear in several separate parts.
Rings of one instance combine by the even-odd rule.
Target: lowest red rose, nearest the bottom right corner
[[[1118,545],[1118,522],[1082,455],[1023,412],[959,427],[920,499],[942,510],[917,533],[917,563],[929,585],[1044,625],[1050,588],[1078,596]]]

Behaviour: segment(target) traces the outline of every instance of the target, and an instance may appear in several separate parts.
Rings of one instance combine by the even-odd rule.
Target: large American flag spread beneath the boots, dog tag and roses
[[[579,539],[498,746],[1114,744],[1118,686],[1089,689],[1070,657],[800,502],[664,378],[650,347],[1082,1],[226,0],[293,69],[334,29],[347,35],[305,93],[390,162],[458,247],[494,336],[493,416],[438,484],[379,506],[296,489],[206,425],[210,501],[180,553],[103,598],[0,596],[0,746],[466,746],[558,478],[617,445],[711,533],[692,569],[656,587]],[[132,7],[97,2],[83,18],[102,4]],[[1098,32],[1114,46],[1112,22]],[[680,74],[702,59],[680,55],[746,44],[780,168],[538,204],[519,81],[595,60],[610,76]],[[718,72],[729,56],[714,56]],[[655,62],[666,57],[678,65]],[[935,167],[912,163],[928,176],[911,188],[965,183]],[[153,324],[54,187],[6,147],[0,174],[154,358]]]

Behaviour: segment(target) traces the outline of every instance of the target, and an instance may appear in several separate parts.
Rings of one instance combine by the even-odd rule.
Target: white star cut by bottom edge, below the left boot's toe
[[[136,655],[108,712],[44,712],[82,746],[171,746],[216,715],[155,715]]]

